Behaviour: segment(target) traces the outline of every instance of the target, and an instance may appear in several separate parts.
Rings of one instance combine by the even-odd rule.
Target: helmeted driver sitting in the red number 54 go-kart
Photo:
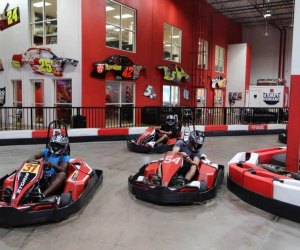
[[[202,153],[202,146],[204,144],[205,135],[203,132],[195,130],[189,135],[187,142],[178,140],[173,147],[173,153],[182,154],[185,159],[182,168],[179,170],[179,177],[177,179],[178,185],[185,185],[192,181],[197,172]]]

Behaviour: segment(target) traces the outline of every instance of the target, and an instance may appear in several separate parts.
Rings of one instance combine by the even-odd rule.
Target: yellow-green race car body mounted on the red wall
[[[157,68],[164,72],[164,80],[180,83],[181,81],[188,82],[190,79],[190,76],[184,72],[183,68],[175,63]]]

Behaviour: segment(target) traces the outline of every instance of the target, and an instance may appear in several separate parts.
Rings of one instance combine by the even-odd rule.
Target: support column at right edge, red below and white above
[[[295,1],[287,140],[287,170],[299,171],[300,159],[300,1]]]

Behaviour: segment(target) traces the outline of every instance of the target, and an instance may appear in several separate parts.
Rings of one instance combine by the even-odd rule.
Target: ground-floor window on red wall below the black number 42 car
[[[106,82],[106,126],[132,125],[134,122],[134,83]]]

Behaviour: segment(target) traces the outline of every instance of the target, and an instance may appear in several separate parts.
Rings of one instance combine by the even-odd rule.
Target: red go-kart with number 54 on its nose
[[[201,159],[192,182],[182,185],[183,177],[178,172],[183,162],[180,153],[167,152],[163,159],[145,164],[128,178],[130,193],[137,199],[165,205],[214,198],[224,178],[224,166]]]

